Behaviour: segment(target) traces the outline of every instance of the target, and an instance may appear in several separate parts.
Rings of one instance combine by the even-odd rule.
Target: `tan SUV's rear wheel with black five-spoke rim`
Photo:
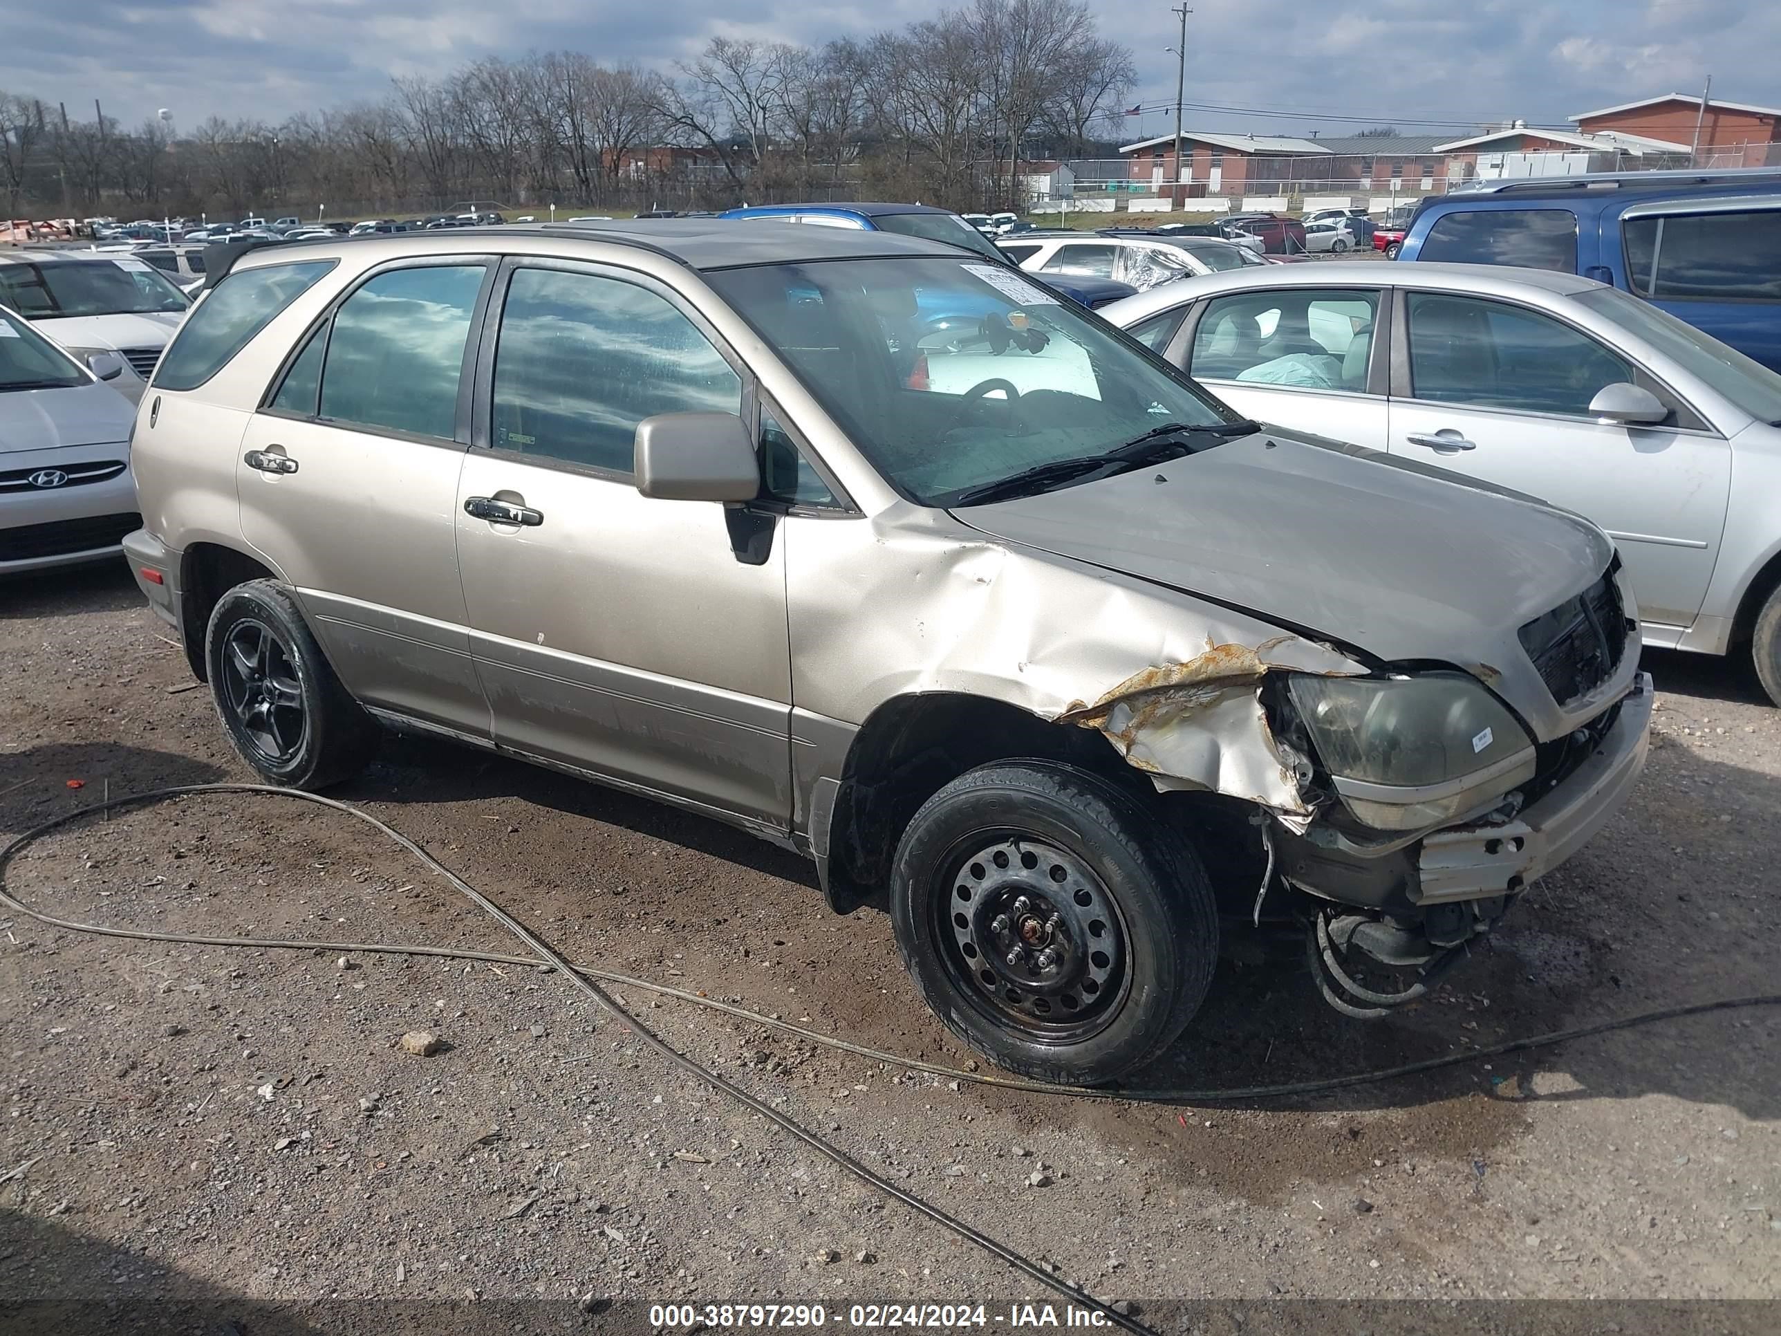
[[[347,695],[303,613],[272,581],[224,593],[205,632],[210,698],[235,752],[265,780],[326,789],[378,750],[378,723]]]

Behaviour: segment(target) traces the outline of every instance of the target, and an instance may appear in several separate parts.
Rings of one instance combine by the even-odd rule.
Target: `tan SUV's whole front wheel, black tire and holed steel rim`
[[[967,771],[915,812],[890,919],[955,1035],[1069,1085],[1161,1055],[1218,960],[1216,905],[1186,839],[1099,775],[1047,761]]]

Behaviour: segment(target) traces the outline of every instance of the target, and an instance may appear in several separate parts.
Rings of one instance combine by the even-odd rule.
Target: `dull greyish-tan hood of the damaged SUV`
[[[1382,661],[1469,668],[1525,657],[1516,631],[1614,558],[1530,497],[1273,429],[958,518]]]

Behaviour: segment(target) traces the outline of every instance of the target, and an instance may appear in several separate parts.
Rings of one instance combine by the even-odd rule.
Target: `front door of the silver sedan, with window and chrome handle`
[[[1605,385],[1662,385],[1553,315],[1405,292],[1409,383],[1393,385],[1391,452],[1574,509],[1614,538],[1646,634],[1674,643],[1719,556],[1731,451],[1712,431],[1598,422]],[[1685,411],[1685,404],[1674,404]]]

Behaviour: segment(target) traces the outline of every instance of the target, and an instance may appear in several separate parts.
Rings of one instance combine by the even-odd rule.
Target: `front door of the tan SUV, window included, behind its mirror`
[[[787,828],[785,545],[632,483],[638,422],[741,413],[739,363],[638,274],[522,260],[500,287],[456,499],[497,741]]]

